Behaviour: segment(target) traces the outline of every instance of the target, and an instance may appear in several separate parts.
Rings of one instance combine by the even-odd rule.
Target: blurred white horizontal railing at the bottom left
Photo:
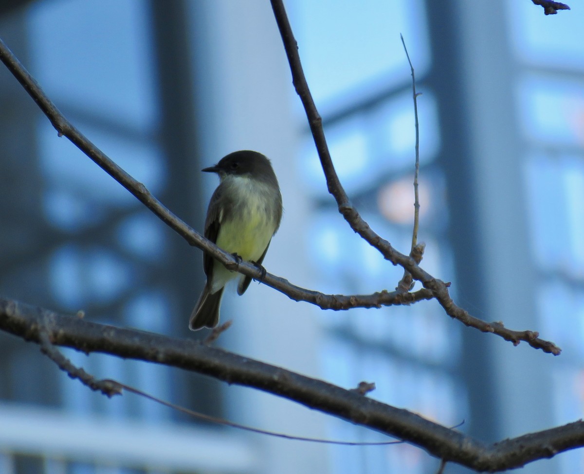
[[[13,456],[19,454],[46,460],[44,473],[39,474],[65,472],[71,461],[114,471],[247,474],[258,472],[260,458],[252,442],[237,433],[2,403],[0,474],[12,474]]]

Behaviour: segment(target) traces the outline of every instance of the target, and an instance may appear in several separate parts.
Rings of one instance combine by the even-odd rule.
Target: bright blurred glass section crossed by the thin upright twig
[[[296,2],[290,6],[301,60],[319,107],[333,162],[349,197],[371,228],[409,253],[413,226],[415,127],[404,34],[416,74],[420,121],[420,231],[426,243],[423,268],[453,279],[446,239],[448,212],[441,166],[440,123],[432,85],[425,6],[399,2]],[[335,21],[326,21],[335,11]],[[394,15],[394,12],[398,12]],[[371,19],[377,19],[371,21]],[[367,30],[367,36],[351,32]],[[334,52],[333,52],[334,51]],[[305,118],[298,111],[301,123]],[[403,276],[340,217],[305,131],[299,169],[313,203],[308,232],[310,261],[323,291],[366,294],[394,290]],[[456,286],[456,285],[455,285]],[[419,288],[419,284],[416,288]],[[350,387],[374,381],[370,396],[407,406],[447,426],[466,416],[465,388],[457,360],[460,327],[427,302],[380,310],[353,309],[321,315],[326,379]],[[399,381],[399,383],[395,383]],[[386,437],[331,420],[332,438],[382,441]],[[434,460],[406,445],[331,447],[333,472],[430,472]],[[358,466],[364,466],[359,468]]]

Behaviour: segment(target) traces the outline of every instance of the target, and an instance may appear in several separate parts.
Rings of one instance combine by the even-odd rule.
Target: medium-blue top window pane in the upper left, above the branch
[[[148,129],[156,120],[147,2],[61,0],[29,10],[31,72],[58,104]]]

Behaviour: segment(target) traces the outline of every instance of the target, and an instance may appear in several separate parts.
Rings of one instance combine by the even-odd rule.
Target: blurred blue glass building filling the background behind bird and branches
[[[463,327],[436,302],[322,312],[264,285],[225,298],[218,344],[496,441],[582,417],[582,11],[529,0],[287,2],[333,161],[375,231],[409,251],[420,120],[422,267],[458,304],[540,330],[553,357]],[[0,1],[0,37],[61,111],[180,218],[202,229],[236,149],[272,158],[285,213],[265,266],[324,292],[392,290],[402,271],[342,220],[326,191],[269,2]],[[0,294],[91,320],[201,337],[190,248],[65,138],[0,68]],[[203,334],[204,335],[204,334]],[[66,350],[96,377],[254,427],[387,438],[196,374]],[[0,334],[0,474],[430,473],[409,445],[307,444],[202,424],[71,381]],[[582,450],[528,473],[584,469]],[[447,466],[447,472],[466,472]]]

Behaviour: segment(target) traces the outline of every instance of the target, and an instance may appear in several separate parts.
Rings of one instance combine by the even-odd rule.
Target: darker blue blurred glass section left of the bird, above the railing
[[[47,94],[102,151],[161,196],[169,185],[168,162],[157,140],[148,15],[148,4],[140,1],[39,2],[30,8],[26,27],[30,69]],[[37,127],[43,221],[56,237],[43,255],[51,306],[169,332],[172,290],[156,277],[168,258],[164,229],[71,142],[56,140],[46,117],[37,117]],[[116,374],[162,398],[170,396],[168,368],[106,356],[86,362],[74,352],[71,357],[98,377]],[[169,415],[126,397],[106,400],[69,384],[64,374],[59,380],[60,405],[74,413]]]

